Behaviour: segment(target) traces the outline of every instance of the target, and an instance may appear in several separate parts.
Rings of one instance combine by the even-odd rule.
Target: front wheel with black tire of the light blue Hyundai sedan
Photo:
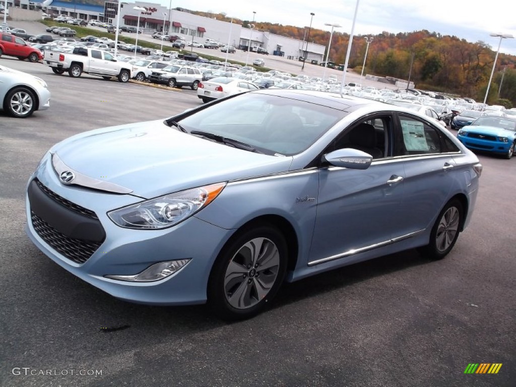
[[[222,248],[210,273],[209,307],[223,320],[261,313],[283,283],[287,254],[285,238],[273,225],[238,231]],[[262,265],[267,267],[260,269]]]

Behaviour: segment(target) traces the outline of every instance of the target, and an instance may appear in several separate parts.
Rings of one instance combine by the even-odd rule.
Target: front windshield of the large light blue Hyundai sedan
[[[327,106],[251,92],[206,106],[180,123],[188,132],[215,134],[265,154],[291,156],[308,149],[346,114]]]

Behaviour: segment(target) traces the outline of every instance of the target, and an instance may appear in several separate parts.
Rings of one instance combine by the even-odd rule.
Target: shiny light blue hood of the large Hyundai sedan
[[[205,184],[287,171],[292,157],[236,149],[163,121],[85,132],[51,149],[72,171],[154,198]],[[91,186],[93,188],[93,186]]]

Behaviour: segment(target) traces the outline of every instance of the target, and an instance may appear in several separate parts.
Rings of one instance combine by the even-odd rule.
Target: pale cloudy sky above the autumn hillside
[[[240,20],[330,30],[325,23],[340,24],[334,31],[351,33],[357,0],[153,0],[172,8],[224,12]],[[479,40],[498,48],[499,38],[516,37],[516,6],[511,0],[359,0],[354,35],[412,32],[427,29],[441,35]],[[516,39],[503,39],[500,52],[516,55]]]

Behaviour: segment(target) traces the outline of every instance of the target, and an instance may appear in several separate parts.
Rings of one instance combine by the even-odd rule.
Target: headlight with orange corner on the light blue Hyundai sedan
[[[189,218],[211,203],[225,187],[217,183],[170,193],[107,213],[120,227],[138,230],[160,230]]]

